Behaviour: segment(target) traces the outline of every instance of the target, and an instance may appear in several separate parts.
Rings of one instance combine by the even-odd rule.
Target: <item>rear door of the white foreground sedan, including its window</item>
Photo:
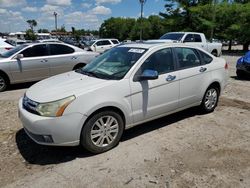
[[[195,48],[174,48],[178,58],[180,76],[179,107],[193,105],[202,100],[204,88],[211,80],[210,65],[204,64]]]

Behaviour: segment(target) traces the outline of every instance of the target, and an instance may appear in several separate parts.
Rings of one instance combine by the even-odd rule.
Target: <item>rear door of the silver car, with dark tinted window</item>
[[[78,56],[75,50],[63,44],[49,44],[50,76],[73,70],[78,63]]]

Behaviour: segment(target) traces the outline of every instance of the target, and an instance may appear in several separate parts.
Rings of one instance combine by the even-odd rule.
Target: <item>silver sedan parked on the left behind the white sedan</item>
[[[97,55],[56,42],[18,46],[0,55],[0,92],[9,84],[38,81],[81,68]]]

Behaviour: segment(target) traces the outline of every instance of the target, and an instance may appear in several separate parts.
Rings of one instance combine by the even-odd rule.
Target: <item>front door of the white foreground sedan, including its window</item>
[[[134,123],[161,116],[178,107],[179,75],[175,71],[172,49],[164,48],[154,52],[136,75],[148,69],[156,70],[158,79],[130,80]]]

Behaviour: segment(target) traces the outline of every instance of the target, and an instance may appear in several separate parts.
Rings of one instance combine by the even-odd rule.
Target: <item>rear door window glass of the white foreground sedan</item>
[[[198,52],[193,48],[175,48],[179,66],[181,69],[200,66]]]

